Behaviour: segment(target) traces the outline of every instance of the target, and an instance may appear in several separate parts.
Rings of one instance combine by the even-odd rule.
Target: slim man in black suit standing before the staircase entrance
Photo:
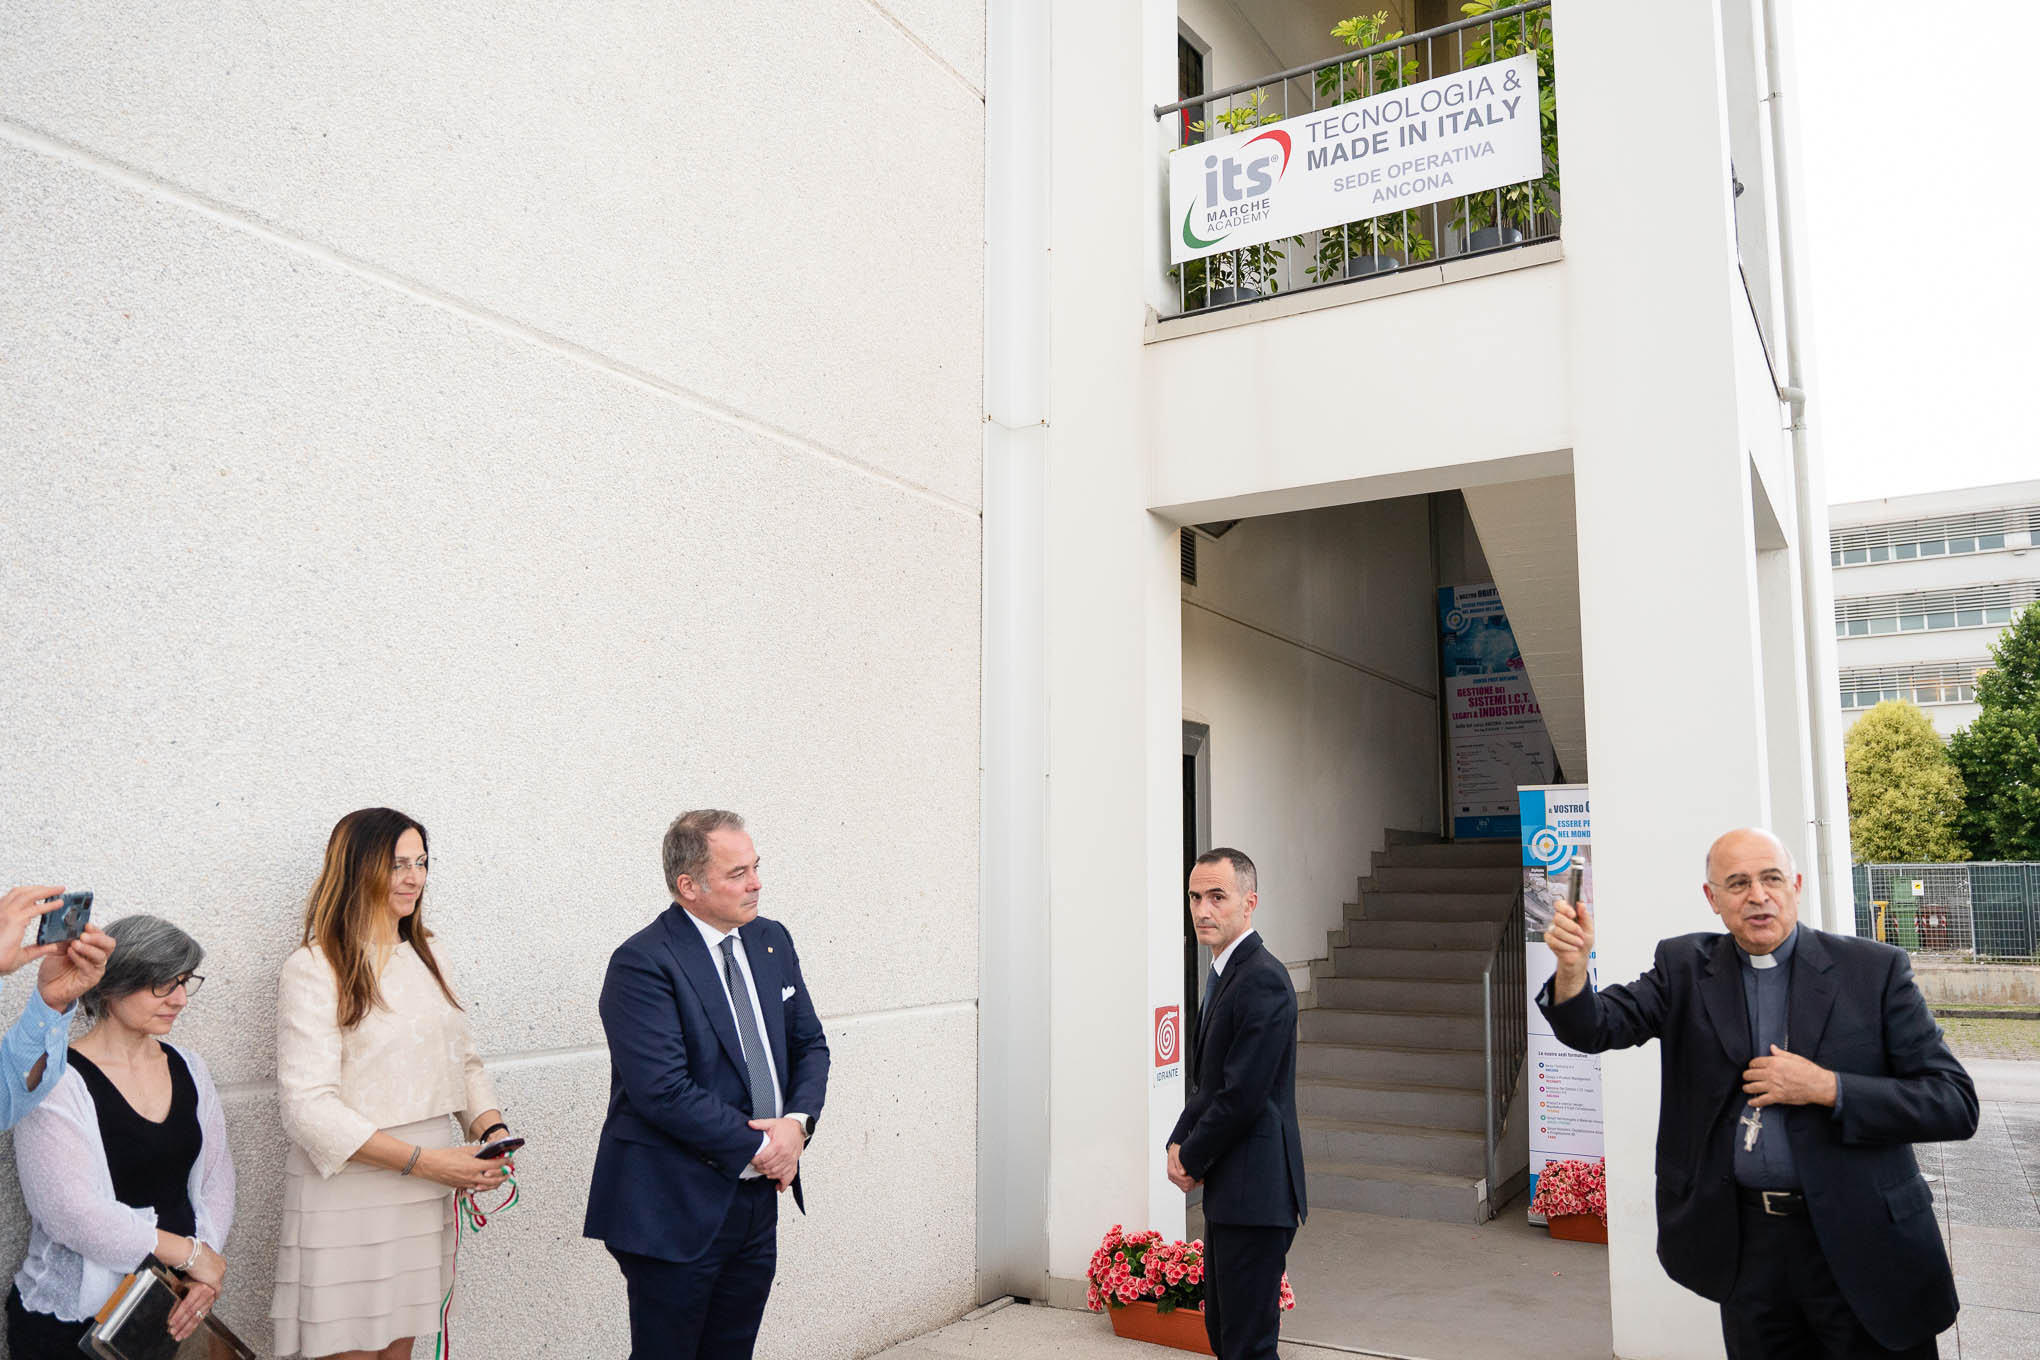
[[[1281,1276],[1304,1221],[1295,1123],[1295,987],[1253,930],[1255,862],[1206,850],[1189,920],[1212,950],[1189,1101],[1169,1134],[1169,1181],[1204,1185],[1204,1329],[1220,1360],[1275,1360]]]

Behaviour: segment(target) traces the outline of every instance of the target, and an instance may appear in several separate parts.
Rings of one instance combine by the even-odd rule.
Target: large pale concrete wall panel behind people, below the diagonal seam
[[[751,818],[836,1046],[771,1354],[969,1307],[977,516],[71,157],[0,141],[0,858],[210,950],[177,1038],[241,1162],[222,1307],[267,1344],[275,971],[373,801],[432,830],[428,920],[532,1138],[463,1254],[469,1354],[622,1348],[579,1240],[596,991],[698,803]]]

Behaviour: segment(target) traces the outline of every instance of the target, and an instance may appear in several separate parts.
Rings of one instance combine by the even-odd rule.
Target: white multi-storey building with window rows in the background
[[[2040,599],[2036,546],[2040,481],[1830,506],[1842,726],[1885,699],[1967,726],[1991,644]]]

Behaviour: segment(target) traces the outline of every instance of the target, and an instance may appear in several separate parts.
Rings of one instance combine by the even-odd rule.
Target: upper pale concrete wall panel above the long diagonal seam
[[[983,102],[865,0],[0,14],[0,122],[977,504]]]

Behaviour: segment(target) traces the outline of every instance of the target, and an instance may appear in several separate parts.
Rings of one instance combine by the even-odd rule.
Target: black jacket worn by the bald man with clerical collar
[[[1920,1346],[1954,1321],[1956,1301],[1911,1144],[1975,1134],[1977,1089],[1903,950],[1799,926],[1791,966],[1791,1048],[1840,1073],[1842,1113],[1773,1105],[1765,1128],[1783,1115],[1814,1234],[1850,1311],[1881,1346]],[[1550,1005],[1546,983],[1538,1007],[1579,1052],[1659,1040],[1659,1260],[1693,1293],[1726,1299],[1738,1250],[1730,1138],[1752,1056],[1734,940],[1663,940],[1628,987]]]

